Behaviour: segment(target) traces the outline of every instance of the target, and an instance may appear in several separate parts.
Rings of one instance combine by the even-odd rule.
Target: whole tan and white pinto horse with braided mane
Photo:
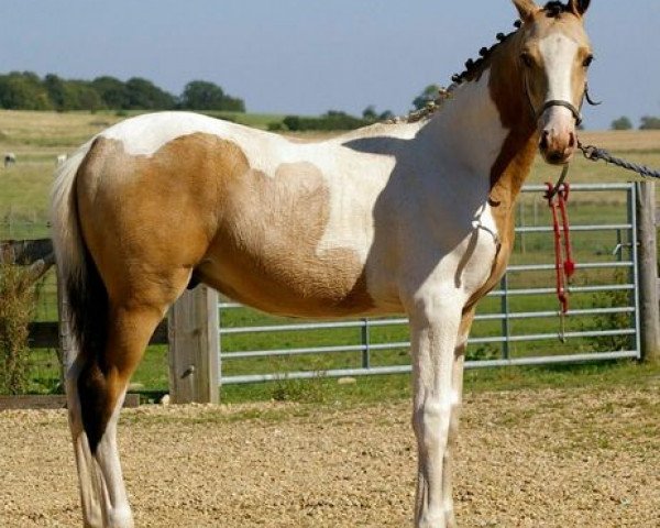
[[[193,113],[123,121],[57,170],[53,238],[76,351],[66,391],[85,526],[133,526],[117,448],[127,385],[190,282],[273,314],[410,319],[415,526],[455,526],[451,464],[476,302],[505,272],[540,148],[565,164],[588,0],[513,0],[519,29],[441,108],[300,142]]]

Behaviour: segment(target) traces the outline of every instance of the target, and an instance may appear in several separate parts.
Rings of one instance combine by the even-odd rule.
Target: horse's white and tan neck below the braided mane
[[[517,62],[518,38],[515,34],[501,44],[458,86],[422,134],[444,163],[487,177],[492,202],[509,206],[529,175],[538,144]]]

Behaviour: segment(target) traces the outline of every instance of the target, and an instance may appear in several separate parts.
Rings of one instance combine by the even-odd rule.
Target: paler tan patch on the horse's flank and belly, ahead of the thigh
[[[251,169],[240,148],[212,139],[219,165],[218,231],[201,278],[242,302],[292,316],[370,311],[360,257],[352,250],[319,251],[330,218],[323,175],[307,162],[279,165],[273,177]]]

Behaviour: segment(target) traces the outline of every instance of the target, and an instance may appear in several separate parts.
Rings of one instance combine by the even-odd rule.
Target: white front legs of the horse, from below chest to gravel
[[[462,355],[457,337],[463,304],[451,295],[416,299],[409,310],[413,344],[413,428],[418,444],[417,528],[455,526],[451,454],[461,402]],[[455,416],[455,418],[452,418]]]

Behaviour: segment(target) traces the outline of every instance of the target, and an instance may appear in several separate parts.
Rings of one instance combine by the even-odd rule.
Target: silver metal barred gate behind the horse
[[[516,248],[499,288],[477,310],[469,369],[640,356],[635,185],[571,187],[584,195],[571,210],[578,265],[565,343],[543,191],[522,189]],[[219,312],[222,384],[410,372],[405,318],[299,321],[229,301]]]

